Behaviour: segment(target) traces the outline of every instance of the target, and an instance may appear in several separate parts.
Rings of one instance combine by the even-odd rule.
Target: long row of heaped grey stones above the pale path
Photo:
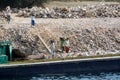
[[[13,11],[18,12],[18,16],[30,17],[31,14],[34,14],[36,18],[120,17],[119,4],[56,7],[53,9],[32,7]]]

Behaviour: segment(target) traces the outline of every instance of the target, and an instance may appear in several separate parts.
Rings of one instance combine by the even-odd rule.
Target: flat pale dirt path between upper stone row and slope
[[[36,18],[37,27],[55,28],[89,28],[89,27],[120,27],[120,18],[79,18],[79,19],[43,19]],[[30,27],[30,18],[16,17],[12,14],[12,21],[5,26],[9,28]]]

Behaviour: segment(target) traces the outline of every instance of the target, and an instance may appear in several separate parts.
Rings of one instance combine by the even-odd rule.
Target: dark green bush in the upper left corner
[[[0,0],[0,7],[4,8],[6,6],[11,7],[31,7],[34,5],[42,6],[43,3],[49,0]]]

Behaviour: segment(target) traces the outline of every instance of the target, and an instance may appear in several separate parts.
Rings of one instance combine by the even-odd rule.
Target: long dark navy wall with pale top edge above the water
[[[1,65],[1,76],[120,71],[120,57],[87,58],[27,64]]]

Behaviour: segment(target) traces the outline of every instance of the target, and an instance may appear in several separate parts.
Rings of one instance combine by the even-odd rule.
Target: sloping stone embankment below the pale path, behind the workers
[[[57,31],[70,39],[71,54],[73,56],[90,56],[120,53],[120,28],[85,28],[81,30],[60,30]],[[43,28],[11,28],[0,30],[0,40],[12,40],[13,48],[21,50],[26,54],[48,53],[39,39],[39,35],[49,45],[50,33]],[[36,35],[34,35],[36,33]],[[73,36],[74,35],[74,36]],[[58,37],[56,40],[56,50],[60,49]],[[59,53],[59,52],[58,52]],[[78,54],[79,53],[79,54]],[[69,55],[63,55],[69,56]],[[41,55],[39,56],[39,58]]]

